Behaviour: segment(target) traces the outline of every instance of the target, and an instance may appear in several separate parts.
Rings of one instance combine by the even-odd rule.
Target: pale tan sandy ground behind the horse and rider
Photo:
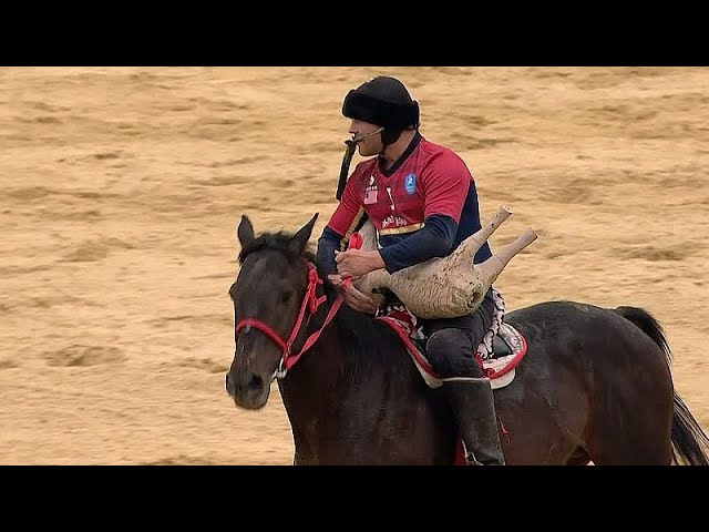
[[[513,208],[493,245],[538,232],[496,283],[508,308],[646,307],[709,428],[709,70],[3,68],[0,463],[290,463],[277,392],[245,412],[224,391],[235,228],[319,212],[319,233],[341,100],[378,73],[483,216]]]

